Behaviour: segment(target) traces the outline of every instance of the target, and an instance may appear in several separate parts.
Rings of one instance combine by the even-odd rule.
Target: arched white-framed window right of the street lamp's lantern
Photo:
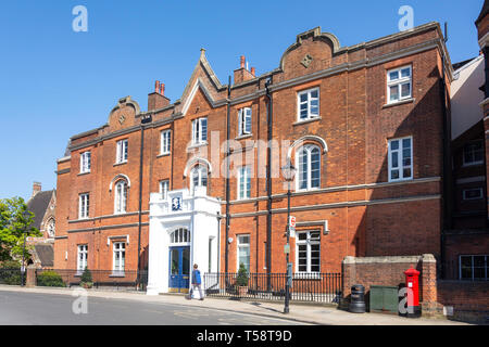
[[[297,190],[321,188],[321,150],[317,145],[308,144],[296,153],[298,168]]]

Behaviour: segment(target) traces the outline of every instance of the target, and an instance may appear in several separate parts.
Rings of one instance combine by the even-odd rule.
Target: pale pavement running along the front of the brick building
[[[73,295],[75,288],[21,287],[0,285],[0,292],[38,293]],[[381,313],[350,313],[331,306],[291,304],[290,312],[283,313],[284,303],[262,303],[254,300],[233,300],[228,298],[206,297],[204,300],[187,300],[183,295],[167,294],[148,296],[146,293],[89,290],[88,297],[124,299],[141,303],[178,305],[181,307],[201,307],[224,312],[254,314],[274,319],[286,319],[293,323],[319,325],[471,325],[440,318],[403,318]]]

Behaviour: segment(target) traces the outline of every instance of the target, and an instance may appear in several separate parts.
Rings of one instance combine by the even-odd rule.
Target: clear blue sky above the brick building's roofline
[[[73,134],[106,123],[122,97],[147,110],[154,80],[175,101],[199,59],[223,83],[246,55],[258,74],[278,66],[313,27],[341,46],[397,33],[401,5],[414,25],[449,22],[453,63],[478,54],[474,25],[484,0],[199,1],[15,0],[0,11],[0,198],[28,198],[33,181],[55,188],[55,160]],[[88,33],[72,10],[88,9]]]

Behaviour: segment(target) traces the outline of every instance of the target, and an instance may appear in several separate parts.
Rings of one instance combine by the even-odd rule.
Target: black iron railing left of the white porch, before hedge
[[[95,288],[131,290],[146,291],[148,285],[148,271],[141,270],[90,270],[92,286]],[[53,274],[54,273],[54,274]],[[82,285],[83,271],[78,270],[57,270],[57,269],[37,269],[37,286],[79,286]]]

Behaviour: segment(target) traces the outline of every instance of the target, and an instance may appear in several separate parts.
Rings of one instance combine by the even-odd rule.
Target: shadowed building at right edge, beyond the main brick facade
[[[452,219],[443,234],[447,279],[489,279],[489,2],[475,22],[480,55],[454,64]]]

